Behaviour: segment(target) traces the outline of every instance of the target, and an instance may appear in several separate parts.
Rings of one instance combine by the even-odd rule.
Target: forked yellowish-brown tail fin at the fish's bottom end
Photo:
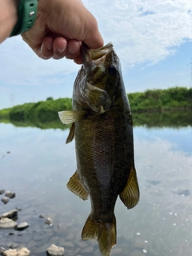
[[[82,229],[82,240],[97,239],[102,256],[110,256],[110,249],[116,244],[116,218],[112,222],[97,222],[91,214]]]

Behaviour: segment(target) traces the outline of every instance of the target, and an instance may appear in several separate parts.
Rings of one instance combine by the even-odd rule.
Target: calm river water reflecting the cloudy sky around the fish
[[[134,128],[141,199],[133,210],[118,200],[118,244],[112,255],[191,254],[192,128],[179,127]],[[76,169],[74,142],[65,145],[67,135],[68,130],[0,124],[0,151],[6,155],[0,161],[0,190],[16,192],[7,205],[0,201],[0,214],[17,206],[22,208],[17,222],[30,223],[23,231],[0,230],[0,246],[17,242],[30,255],[42,256],[55,243],[65,247],[66,255],[100,255],[97,242],[81,240],[90,201],[66,189]],[[52,218],[53,226],[40,214]]]

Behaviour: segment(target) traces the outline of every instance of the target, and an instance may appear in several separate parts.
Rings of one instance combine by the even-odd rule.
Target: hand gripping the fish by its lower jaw
[[[66,57],[78,64],[82,41],[90,49],[103,45],[97,21],[81,0],[40,0],[34,26],[22,38],[40,58]]]

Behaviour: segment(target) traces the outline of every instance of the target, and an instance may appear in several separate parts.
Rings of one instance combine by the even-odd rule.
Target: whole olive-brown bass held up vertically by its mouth
[[[82,43],[81,54],[73,110],[58,112],[62,123],[71,124],[66,143],[75,138],[77,170],[67,187],[83,200],[90,197],[82,240],[96,239],[102,256],[109,256],[117,240],[118,196],[128,209],[139,201],[132,114],[112,42],[96,50]]]

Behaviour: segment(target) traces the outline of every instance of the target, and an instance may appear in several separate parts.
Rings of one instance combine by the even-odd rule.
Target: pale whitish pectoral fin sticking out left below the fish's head
[[[70,110],[70,111],[60,111],[58,112],[58,117],[65,125],[69,125],[72,122],[77,122],[81,120],[87,112],[85,110]]]

